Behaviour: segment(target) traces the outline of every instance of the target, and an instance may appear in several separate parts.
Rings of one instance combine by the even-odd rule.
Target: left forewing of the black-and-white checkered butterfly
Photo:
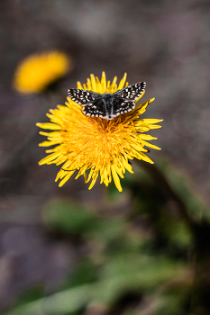
[[[78,103],[79,105],[86,105],[87,103],[93,103],[97,99],[101,98],[101,94],[87,91],[79,90],[77,88],[69,88],[68,95],[72,101]]]

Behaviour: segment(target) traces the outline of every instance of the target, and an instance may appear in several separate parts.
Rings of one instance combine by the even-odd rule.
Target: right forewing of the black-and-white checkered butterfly
[[[131,100],[132,102],[135,102],[143,93],[145,87],[146,82],[138,82],[134,85],[125,86],[122,90],[115,92],[113,95],[124,100]]]

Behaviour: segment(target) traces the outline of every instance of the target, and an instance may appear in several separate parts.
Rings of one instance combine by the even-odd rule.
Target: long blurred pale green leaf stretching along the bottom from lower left
[[[51,294],[8,311],[6,315],[62,315],[82,310],[87,303],[95,302],[111,306],[123,293],[140,293],[140,290],[150,293],[166,281],[183,277],[185,271],[181,264],[165,257],[125,255],[107,263],[98,282]]]

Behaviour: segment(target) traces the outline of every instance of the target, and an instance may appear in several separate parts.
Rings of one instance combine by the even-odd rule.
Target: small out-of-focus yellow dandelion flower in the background
[[[53,50],[25,58],[14,73],[14,89],[21,94],[37,94],[64,76],[70,67],[69,57]]]

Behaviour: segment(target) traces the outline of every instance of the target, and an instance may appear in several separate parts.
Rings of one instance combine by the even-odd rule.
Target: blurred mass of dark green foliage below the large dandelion
[[[159,168],[186,205],[192,227],[201,219],[208,224],[208,208],[185,177],[165,161]],[[194,229],[181,216],[178,200],[168,198],[143,168],[134,165],[134,170],[123,180],[130,211],[102,215],[62,199],[45,205],[42,217],[48,234],[76,245],[79,239],[87,250],[58,293],[41,297],[40,289],[34,288],[20,296],[7,315],[81,314],[93,305],[95,314],[205,314],[196,296]],[[110,184],[106,202],[122,198]]]

